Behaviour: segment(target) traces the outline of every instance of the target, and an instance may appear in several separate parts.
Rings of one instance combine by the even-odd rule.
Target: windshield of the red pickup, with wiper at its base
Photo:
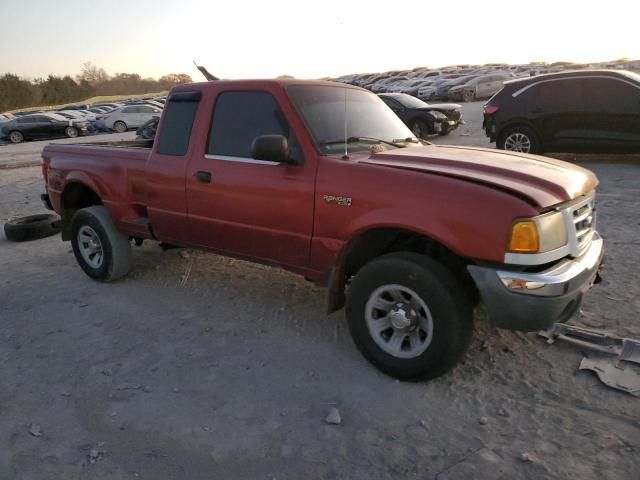
[[[346,137],[392,141],[413,137],[402,120],[373,93],[325,85],[292,85],[289,98],[323,153],[339,153]],[[347,134],[345,135],[345,113]],[[351,142],[349,150],[367,150],[371,142]]]

